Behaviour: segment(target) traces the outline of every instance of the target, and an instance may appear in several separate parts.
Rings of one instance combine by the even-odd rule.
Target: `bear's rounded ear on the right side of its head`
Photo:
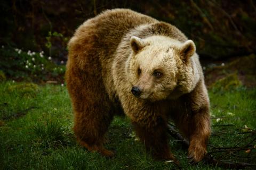
[[[196,45],[192,40],[187,40],[180,48],[182,59],[187,62],[196,52]]]

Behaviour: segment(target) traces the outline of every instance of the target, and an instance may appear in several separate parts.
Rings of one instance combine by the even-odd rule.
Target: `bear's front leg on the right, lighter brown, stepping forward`
[[[183,114],[175,114],[173,120],[189,140],[190,162],[199,162],[206,154],[211,134],[210,104],[203,80],[198,82],[190,94],[183,96],[182,100],[185,101],[185,111]]]

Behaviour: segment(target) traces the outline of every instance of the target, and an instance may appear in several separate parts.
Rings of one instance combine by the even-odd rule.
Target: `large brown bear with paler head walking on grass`
[[[127,10],[85,21],[68,43],[66,81],[77,141],[105,156],[105,133],[116,113],[127,115],[154,158],[174,160],[171,118],[199,162],[210,137],[209,97],[192,40],[169,23]]]

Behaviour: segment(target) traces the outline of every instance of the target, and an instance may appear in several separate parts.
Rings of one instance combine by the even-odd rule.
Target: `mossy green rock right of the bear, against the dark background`
[[[237,77],[237,73],[229,74],[227,77],[217,80],[210,88],[215,90],[230,90],[241,86],[242,83]]]

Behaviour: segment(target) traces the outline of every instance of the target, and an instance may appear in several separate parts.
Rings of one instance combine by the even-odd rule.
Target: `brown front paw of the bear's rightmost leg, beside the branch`
[[[189,146],[188,159],[190,163],[198,163],[206,155],[207,151],[205,147]]]

